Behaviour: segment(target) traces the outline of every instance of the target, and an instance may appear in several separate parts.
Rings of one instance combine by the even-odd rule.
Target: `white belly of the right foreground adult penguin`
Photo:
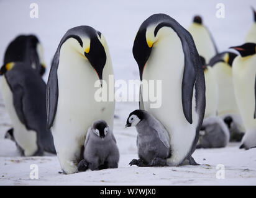
[[[167,31],[168,35],[154,43],[150,58],[145,65],[143,79],[162,80],[162,106],[150,108],[150,101],[144,101],[144,108],[166,127],[170,134],[171,146],[171,158],[168,161],[171,165],[178,165],[193,145],[198,114],[194,108],[194,96],[193,124],[186,121],[183,113],[181,84],[184,53],[180,38],[171,28],[163,27],[159,31]],[[142,85],[142,92],[143,88]]]

